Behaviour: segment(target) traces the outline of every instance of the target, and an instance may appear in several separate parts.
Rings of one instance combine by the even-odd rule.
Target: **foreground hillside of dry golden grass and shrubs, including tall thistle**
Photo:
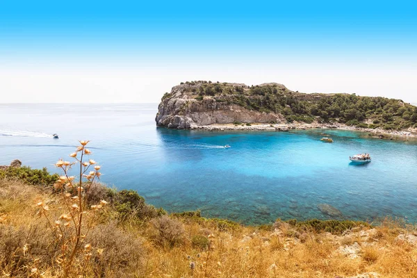
[[[70,155],[74,162],[56,163],[61,176],[0,169],[4,277],[417,277],[414,226],[277,220],[248,227],[199,211],[167,214],[133,190],[98,183],[101,167],[85,159],[87,144]]]

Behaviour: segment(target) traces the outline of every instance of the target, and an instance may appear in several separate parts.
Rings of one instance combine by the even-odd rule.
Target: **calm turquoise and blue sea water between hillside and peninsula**
[[[167,211],[200,209],[246,224],[276,218],[386,215],[417,222],[417,143],[334,130],[210,132],[156,128],[157,104],[0,104],[0,164],[31,167],[67,158],[88,139],[102,181],[138,190]],[[321,142],[330,134],[333,144]],[[51,138],[58,133],[58,140]],[[225,144],[231,148],[224,149]],[[350,165],[369,152],[373,162]]]

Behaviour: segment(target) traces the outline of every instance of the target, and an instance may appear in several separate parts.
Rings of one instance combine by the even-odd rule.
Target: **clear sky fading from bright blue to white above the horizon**
[[[0,102],[158,102],[181,81],[417,103],[415,1],[0,0]]]

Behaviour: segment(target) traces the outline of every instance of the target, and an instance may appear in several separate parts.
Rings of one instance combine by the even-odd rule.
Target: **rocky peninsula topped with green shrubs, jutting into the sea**
[[[404,101],[345,93],[305,94],[279,83],[181,83],[162,97],[155,120],[158,126],[172,129],[333,128],[417,137],[417,107]]]

